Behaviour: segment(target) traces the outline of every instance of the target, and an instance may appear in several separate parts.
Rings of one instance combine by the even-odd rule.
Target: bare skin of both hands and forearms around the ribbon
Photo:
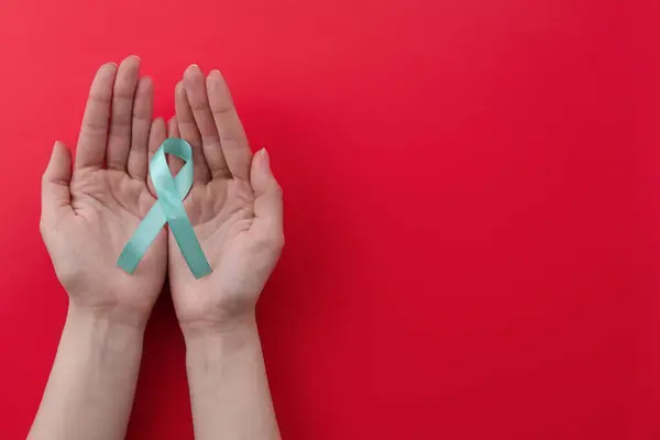
[[[165,282],[187,345],[198,439],[276,439],[254,319],[284,244],[282,191],[265,150],[252,154],[219,72],[190,66],[177,117],[152,121],[140,59],[98,70],[72,169],[57,142],[43,176],[41,230],[69,310],[30,439],[122,439],[144,327]],[[213,272],[197,280],[164,229],[133,275],[117,257],[155,202],[151,156],[180,135],[194,150],[184,206]],[[176,173],[180,163],[172,161]]]

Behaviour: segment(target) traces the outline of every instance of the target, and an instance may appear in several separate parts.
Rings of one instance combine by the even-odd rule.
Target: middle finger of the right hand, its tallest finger
[[[216,129],[213,113],[211,113],[209,107],[204,74],[196,64],[188,67],[184,73],[184,87],[199,134],[201,134],[201,146],[211,177],[231,178],[231,173],[227,167],[220,146],[220,136]]]

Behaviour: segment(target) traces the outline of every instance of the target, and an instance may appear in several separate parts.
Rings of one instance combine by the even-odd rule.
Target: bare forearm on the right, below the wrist
[[[195,437],[279,439],[254,318],[186,336]]]

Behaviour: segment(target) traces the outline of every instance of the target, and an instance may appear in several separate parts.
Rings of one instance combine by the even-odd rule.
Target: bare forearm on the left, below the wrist
[[[29,439],[123,439],[144,330],[69,307]]]

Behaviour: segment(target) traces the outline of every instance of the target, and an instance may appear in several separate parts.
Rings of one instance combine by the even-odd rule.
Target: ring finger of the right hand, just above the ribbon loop
[[[193,146],[194,180],[206,184],[210,180],[210,173],[204,157],[201,136],[195,122],[195,116],[188,102],[188,96],[186,95],[183,81],[178,82],[175,87],[174,107],[176,109],[179,134],[183,140]]]

